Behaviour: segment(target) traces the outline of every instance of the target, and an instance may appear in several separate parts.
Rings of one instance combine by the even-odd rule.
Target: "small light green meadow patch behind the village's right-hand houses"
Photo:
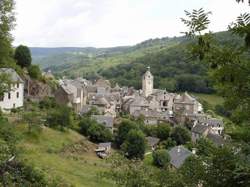
[[[212,107],[215,107],[216,105],[221,105],[224,102],[223,97],[214,94],[192,93],[192,95],[194,95],[198,99],[200,98],[208,102],[208,104],[210,104]]]

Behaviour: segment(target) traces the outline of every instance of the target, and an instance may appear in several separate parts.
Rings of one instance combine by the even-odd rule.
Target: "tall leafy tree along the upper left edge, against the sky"
[[[15,26],[15,2],[13,0],[0,1],[0,65],[7,64],[11,60],[12,35]]]

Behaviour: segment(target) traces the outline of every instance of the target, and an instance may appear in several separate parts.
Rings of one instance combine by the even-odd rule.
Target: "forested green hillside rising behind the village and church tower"
[[[220,44],[242,41],[229,32],[215,34]],[[169,91],[210,93],[212,81],[205,64],[191,61],[185,37],[150,39],[131,47],[118,48],[61,48],[45,49],[47,55],[33,59],[58,76],[83,76],[96,79],[103,76],[120,85],[141,87],[141,76],[150,66],[155,76],[155,87]],[[56,53],[53,52],[57,51]],[[41,49],[40,54],[45,54]],[[40,59],[40,60],[37,60]]]

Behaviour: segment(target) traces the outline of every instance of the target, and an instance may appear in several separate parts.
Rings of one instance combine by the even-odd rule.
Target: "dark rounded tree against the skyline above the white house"
[[[28,68],[31,65],[31,53],[27,46],[20,45],[15,50],[15,59],[22,68]]]

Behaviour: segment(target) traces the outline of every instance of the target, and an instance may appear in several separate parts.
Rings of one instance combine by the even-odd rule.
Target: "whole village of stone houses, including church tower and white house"
[[[39,100],[43,97],[54,97],[57,103],[71,107],[79,116],[84,116],[95,109],[98,115],[91,118],[98,124],[116,133],[119,126],[119,116],[127,114],[134,119],[142,118],[145,126],[157,126],[167,123],[172,127],[185,126],[191,132],[192,142],[200,138],[208,138],[217,146],[223,146],[226,141],[224,125],[221,119],[213,118],[204,113],[202,104],[189,93],[169,93],[166,90],[154,89],[154,76],[150,67],[142,76],[142,89],[130,87],[114,87],[108,80],[99,79],[94,82],[83,78],[60,79],[58,88],[52,90],[39,82],[27,77],[21,78],[13,69],[2,68],[1,73],[11,75],[15,84],[11,91],[1,98],[0,108],[10,112],[23,107],[24,101]],[[53,78],[51,72],[44,76]],[[148,145],[154,151],[160,139],[146,137]],[[111,153],[111,142],[101,142],[95,152],[100,158],[108,157]],[[178,145],[169,150],[171,164],[179,168],[196,150],[188,150]],[[146,153],[147,154],[147,153]]]

